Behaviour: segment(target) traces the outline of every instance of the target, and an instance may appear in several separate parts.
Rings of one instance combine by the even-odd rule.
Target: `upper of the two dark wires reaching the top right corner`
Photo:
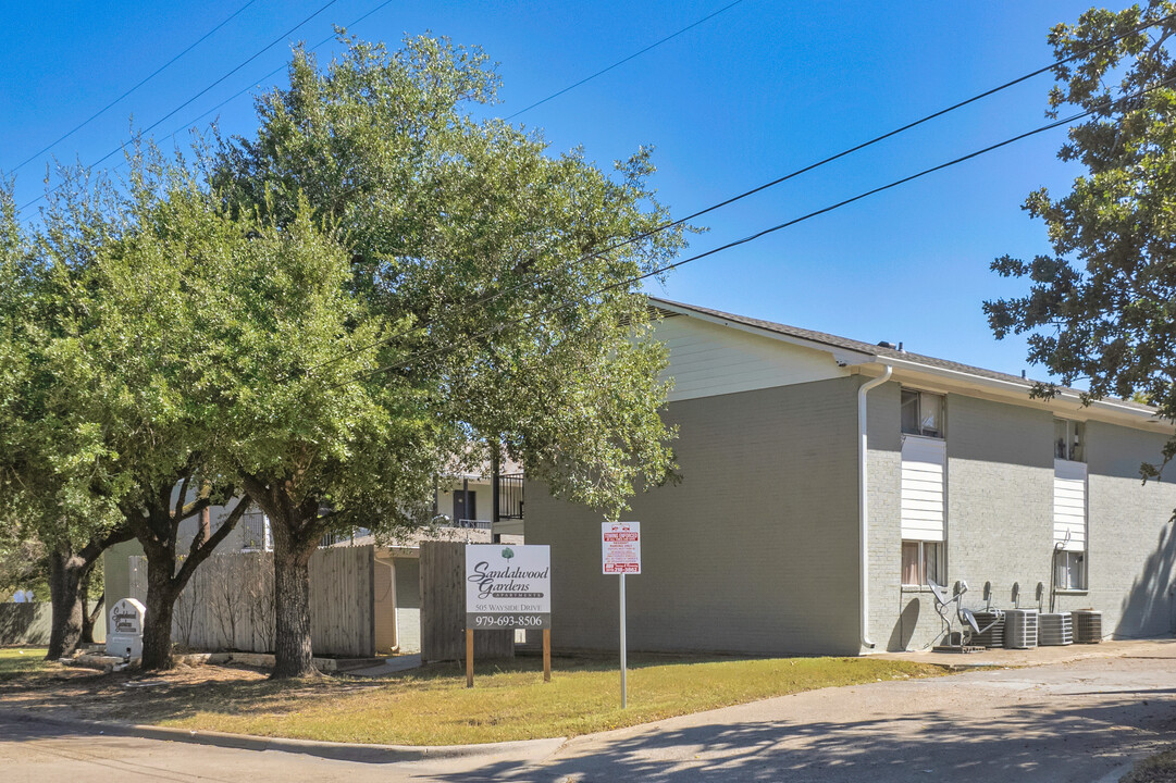
[[[787,182],[788,180],[791,180],[791,179],[794,179],[796,176],[800,176],[801,174],[806,174],[806,173],[811,172],[811,170],[814,170],[816,168],[820,168],[820,167],[826,166],[828,163],[831,163],[831,162],[834,162],[836,160],[846,158],[847,155],[851,155],[851,154],[854,154],[856,152],[861,152],[862,149],[866,149],[867,147],[871,147],[871,146],[874,146],[874,145],[876,145],[876,143],[878,143],[881,141],[886,141],[887,139],[896,136],[896,135],[898,135],[901,133],[906,133],[907,130],[910,130],[911,128],[916,128],[916,127],[918,127],[918,126],[921,126],[921,125],[923,125],[926,122],[929,122],[929,121],[931,121],[934,119],[941,118],[941,116],[943,116],[946,114],[955,112],[956,109],[963,108],[964,106],[968,106],[970,103],[975,103],[976,101],[983,100],[984,98],[989,98],[990,95],[995,95],[996,93],[1000,93],[1001,91],[1004,91],[1004,89],[1008,89],[1008,88],[1014,87],[1016,85],[1020,85],[1020,83],[1022,83],[1022,82],[1024,82],[1024,81],[1027,81],[1029,79],[1033,79],[1035,76],[1040,76],[1041,74],[1043,74],[1043,73],[1045,73],[1048,71],[1053,71],[1054,68],[1056,68],[1058,66],[1065,65],[1067,62],[1070,62],[1071,60],[1074,60],[1076,58],[1085,56],[1090,52],[1095,52],[1095,51],[1101,49],[1103,47],[1110,46],[1111,44],[1114,44],[1115,41],[1120,40],[1121,38],[1123,38],[1125,35],[1131,35],[1134,33],[1137,33],[1137,32],[1141,32],[1143,29],[1147,29],[1148,27],[1151,27],[1151,26],[1155,26],[1155,25],[1161,25],[1163,22],[1167,22],[1167,21],[1171,20],[1172,18],[1176,18],[1176,14],[1171,14],[1171,15],[1164,16],[1163,19],[1158,19],[1158,20],[1152,21],[1152,22],[1141,24],[1141,25],[1134,27],[1132,29],[1125,31],[1123,33],[1120,33],[1118,35],[1114,35],[1114,36],[1111,36],[1111,38],[1109,38],[1109,39],[1107,39],[1104,41],[1101,41],[1100,44],[1097,44],[1095,46],[1091,46],[1088,49],[1084,49],[1082,52],[1077,52],[1075,54],[1071,54],[1070,56],[1064,58],[1062,60],[1057,60],[1056,62],[1051,62],[1048,66],[1037,68],[1036,71],[1033,71],[1030,73],[1024,74],[1023,76],[1017,76],[1016,79],[1013,79],[1011,81],[1007,81],[1003,85],[1000,85],[997,87],[993,87],[991,89],[985,89],[982,93],[977,93],[976,95],[973,95],[971,98],[968,98],[968,99],[962,100],[962,101],[960,101],[957,103],[953,103],[951,106],[948,106],[947,108],[942,108],[942,109],[940,109],[937,112],[928,114],[928,115],[926,115],[926,116],[923,116],[923,118],[921,118],[918,120],[915,120],[914,122],[908,122],[907,125],[903,125],[903,126],[901,126],[898,128],[895,128],[894,130],[889,130],[887,133],[883,133],[880,136],[874,136],[869,141],[863,141],[860,145],[856,145],[856,146],[850,147],[848,149],[843,149],[842,152],[836,153],[834,155],[829,155],[828,158],[818,160],[815,163],[809,163],[808,166],[799,168],[799,169],[796,169],[794,172],[789,172],[788,174],[784,174],[783,176],[776,178],[775,180],[771,180],[770,182],[766,182],[766,183],[763,183],[763,185],[761,185],[759,187],[751,188],[750,190],[744,190],[743,193],[740,193],[739,195],[731,196],[729,199],[724,199],[723,201],[714,203],[714,205],[711,205],[709,207],[706,207],[703,209],[699,209],[697,212],[690,213],[689,215],[686,215],[684,218],[679,218],[676,220],[671,220],[669,222],[664,222],[664,223],[661,223],[659,226],[655,226],[654,228],[652,228],[652,229],[649,229],[647,232],[642,232],[642,233],[636,234],[634,236],[630,236],[628,239],[624,239],[624,240],[621,240],[621,241],[615,242],[613,245],[609,245],[608,247],[606,247],[603,249],[595,250],[595,252],[589,253],[587,255],[582,255],[582,256],[580,256],[577,259],[574,259],[572,261],[566,262],[564,265],[560,265],[560,266],[555,267],[554,269],[552,269],[552,270],[549,270],[549,272],[547,272],[547,273],[544,273],[544,274],[542,274],[542,275],[540,275],[540,276],[537,276],[535,279],[516,283],[516,285],[510,286],[508,288],[503,288],[501,290],[497,290],[494,294],[489,294],[488,296],[483,296],[482,299],[480,299],[480,300],[477,300],[475,302],[472,302],[470,304],[465,306],[465,308],[466,309],[473,309],[473,308],[476,308],[476,307],[482,307],[482,306],[489,304],[489,303],[494,302],[495,300],[497,300],[497,299],[500,299],[502,296],[506,296],[507,294],[512,294],[512,293],[519,290],[520,288],[523,288],[526,286],[534,286],[537,282],[543,282],[544,280],[550,279],[553,275],[555,275],[557,272],[560,272],[564,266],[570,267],[570,266],[575,266],[575,265],[583,263],[583,262],[587,262],[587,261],[593,261],[595,259],[601,257],[602,255],[604,255],[607,253],[612,253],[614,250],[617,250],[620,248],[627,247],[627,246],[633,245],[635,242],[640,242],[641,240],[648,239],[648,237],[650,237],[650,236],[653,236],[655,234],[660,234],[661,232],[668,230],[670,228],[675,228],[677,226],[682,226],[682,225],[684,225],[684,223],[687,223],[687,222],[689,222],[691,220],[695,220],[696,218],[701,218],[702,215],[706,215],[708,213],[715,212],[716,209],[721,209],[723,207],[733,205],[736,201],[741,201],[743,199],[747,199],[748,196],[755,195],[756,193],[760,193],[762,190],[767,190],[769,188],[776,187],[777,185]],[[307,368],[306,372],[307,373],[312,373],[312,372],[314,372],[314,370],[316,370],[316,369],[319,369],[321,367],[326,367],[326,366],[332,364],[332,363],[334,363],[336,361],[347,359],[348,356],[350,356],[353,354],[356,354],[356,353],[360,353],[360,352],[363,352],[363,350],[370,350],[372,348],[377,348],[380,346],[390,343],[393,340],[396,340],[399,337],[402,337],[402,336],[406,336],[408,334],[412,334],[413,332],[422,330],[422,329],[427,328],[427,326],[428,326],[428,323],[426,322],[426,323],[420,323],[420,324],[409,327],[408,329],[395,332],[395,333],[393,333],[393,334],[390,334],[390,335],[388,335],[386,337],[381,337],[377,341],[374,341],[374,342],[367,343],[365,346],[360,346],[360,347],[353,348],[353,349],[350,349],[348,352],[345,352],[345,353],[340,354],[339,356],[328,359],[328,360],[322,361],[322,362],[320,362],[318,364],[312,364],[309,368]]]

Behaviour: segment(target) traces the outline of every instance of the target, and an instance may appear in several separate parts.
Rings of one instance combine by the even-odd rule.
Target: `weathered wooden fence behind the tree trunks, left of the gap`
[[[315,655],[375,655],[375,548],[330,547],[310,557],[310,640]],[[131,557],[131,597],[145,601],[147,558]],[[213,555],[200,564],[172,615],[172,637],[196,650],[272,652],[273,553]]]

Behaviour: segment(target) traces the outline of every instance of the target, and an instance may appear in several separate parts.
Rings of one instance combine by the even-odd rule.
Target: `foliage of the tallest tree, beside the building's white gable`
[[[668,218],[647,185],[650,152],[615,176],[580,150],[550,155],[537,133],[469,115],[496,86],[481,52],[445,39],[395,53],[349,41],[325,72],[299,52],[290,87],[258,101],[256,138],[221,149],[214,183],[236,213],[288,226],[308,207],[338,232],[358,296],[347,329],[377,337],[363,361],[383,368],[352,394],[392,413],[402,476],[439,473],[447,453],[476,466],[500,443],[529,476],[616,514],[673,467],[656,413],[666,354],[642,340],[629,280],[675,254],[682,232],[614,247]],[[355,363],[321,361],[310,372],[325,384]],[[290,446],[270,476],[303,468],[309,451]],[[335,475],[320,488],[333,507],[368,506],[352,486],[367,478]]]

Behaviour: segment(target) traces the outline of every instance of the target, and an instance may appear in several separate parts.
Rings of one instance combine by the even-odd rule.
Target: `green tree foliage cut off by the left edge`
[[[0,523],[6,540],[81,547],[118,524],[99,489],[108,456],[101,427],[69,403],[65,348],[87,317],[85,275],[115,235],[109,189],[72,173],[41,228],[18,221],[0,188]]]

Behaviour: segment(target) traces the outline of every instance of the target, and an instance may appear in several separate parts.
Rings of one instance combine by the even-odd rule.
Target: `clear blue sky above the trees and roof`
[[[0,39],[0,172],[12,169],[199,39],[246,0],[6,4]],[[154,123],[327,0],[254,0],[233,21],[105,115],[16,172],[18,201],[42,192],[49,155],[92,163]],[[336,0],[289,40],[318,44],[382,0]],[[394,46],[432,31],[500,62],[502,116],[728,5],[730,0],[390,2],[350,32]],[[602,166],[656,147],[675,215],[709,206],[1047,65],[1045,34],[1082,2],[784,4],[743,0],[614,71],[516,118],[553,152],[583,146]],[[333,46],[319,49],[329,56]],[[266,79],[275,46],[162,122],[156,138]],[[783,222],[1045,122],[1048,75],[701,219],[687,253]],[[242,95],[216,109],[249,133]],[[206,118],[201,125],[207,123]],[[1018,293],[990,261],[1048,252],[1024,196],[1068,187],[1054,130],[671,273],[669,299],[1020,373],[1024,343],[993,339],[981,303]],[[120,155],[106,165],[114,165]],[[26,216],[33,216],[32,207]],[[1042,368],[1029,375],[1044,377]]]

